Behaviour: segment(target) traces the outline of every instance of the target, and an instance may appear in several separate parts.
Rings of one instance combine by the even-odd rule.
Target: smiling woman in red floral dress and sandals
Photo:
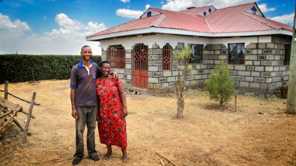
[[[98,127],[100,141],[107,145],[107,153],[103,159],[111,158],[112,147],[115,145],[121,148],[122,162],[127,163],[126,154],[126,127],[125,117],[127,116],[126,98],[121,80],[113,79],[110,75],[111,66],[109,61],[101,63],[101,77],[97,79],[97,95],[101,100],[98,113]]]

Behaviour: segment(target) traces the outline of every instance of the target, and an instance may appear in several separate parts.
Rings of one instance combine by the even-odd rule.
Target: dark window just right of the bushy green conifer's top
[[[228,63],[245,64],[245,43],[228,44]]]

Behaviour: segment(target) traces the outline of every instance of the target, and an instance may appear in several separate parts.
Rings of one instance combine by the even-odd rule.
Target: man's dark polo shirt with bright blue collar
[[[96,94],[96,79],[101,75],[99,66],[91,62],[89,74],[82,61],[73,66],[70,87],[75,90],[75,106],[98,105]]]

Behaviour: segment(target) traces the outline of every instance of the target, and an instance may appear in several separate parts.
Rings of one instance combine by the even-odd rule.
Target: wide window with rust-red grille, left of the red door
[[[107,51],[107,60],[111,67],[125,68],[125,49],[122,45],[111,45]]]

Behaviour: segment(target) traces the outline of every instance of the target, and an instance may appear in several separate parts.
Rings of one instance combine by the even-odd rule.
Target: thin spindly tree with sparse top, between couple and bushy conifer
[[[188,74],[188,63],[191,55],[191,49],[189,47],[184,46],[181,52],[174,53],[174,57],[177,59],[178,63],[178,76],[177,80],[175,81],[176,86],[176,94],[178,98],[178,108],[177,108],[177,117],[183,118],[183,110],[184,110],[184,96],[185,96],[185,83],[187,80]],[[183,77],[181,78],[181,62],[184,61],[184,70],[183,70]]]

